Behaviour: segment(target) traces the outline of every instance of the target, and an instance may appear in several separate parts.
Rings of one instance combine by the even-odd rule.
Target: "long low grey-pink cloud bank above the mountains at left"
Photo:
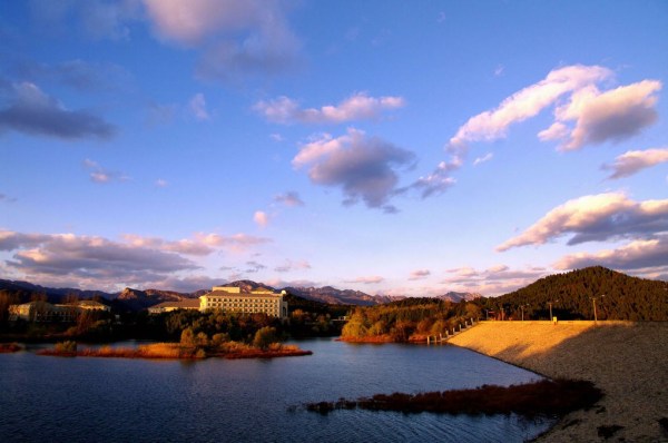
[[[196,234],[180,240],[124,235],[117,242],[99,236],[0,229],[0,252],[11,254],[11,258],[0,260],[0,268],[12,278],[60,287],[200,289],[219,279],[193,275],[202,269],[195,259],[220,249],[242,250],[266,242],[243,234]]]

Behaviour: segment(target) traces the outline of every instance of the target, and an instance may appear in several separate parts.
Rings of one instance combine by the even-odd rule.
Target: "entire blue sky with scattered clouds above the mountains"
[[[0,3],[0,278],[668,279],[668,2]]]

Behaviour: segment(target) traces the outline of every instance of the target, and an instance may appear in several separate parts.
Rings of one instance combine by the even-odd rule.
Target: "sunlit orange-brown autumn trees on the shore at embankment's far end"
[[[480,306],[438,298],[406,298],[350,312],[341,337],[351,342],[409,342],[428,335],[445,335],[471,318]]]

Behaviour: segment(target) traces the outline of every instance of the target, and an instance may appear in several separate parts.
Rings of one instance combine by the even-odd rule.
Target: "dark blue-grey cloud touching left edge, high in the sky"
[[[66,140],[108,139],[116,134],[116,128],[101,118],[85,110],[66,109],[35,83],[14,83],[9,91],[2,92],[0,89],[0,132],[11,129]]]

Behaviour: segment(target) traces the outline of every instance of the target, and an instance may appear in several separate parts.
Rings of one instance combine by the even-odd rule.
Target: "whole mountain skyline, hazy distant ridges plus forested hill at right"
[[[272,291],[281,289],[253,280],[236,280],[226,283],[225,286],[237,286],[242,288],[242,292],[249,292],[258,287],[266,287]],[[626,274],[595,266],[543,277],[527,287],[500,297],[482,297],[481,303],[490,308],[501,305],[524,305],[525,313],[541,316],[547,315],[543,311],[552,303],[556,313],[560,311],[579,312],[583,318],[589,318],[591,316],[588,312],[589,306],[591,306],[590,297],[607,294],[606,301],[608,303],[601,304],[601,315],[647,319],[662,317],[662,313],[668,312],[668,307],[666,307],[668,306],[667,288],[668,284],[666,282],[630,277]],[[405,296],[370,295],[361,291],[337,289],[332,286],[288,286],[283,289],[296,297],[333,305],[372,306],[406,298]],[[50,288],[28,282],[0,279],[1,292],[10,294],[18,302],[27,302],[35,295],[46,296],[52,303],[58,303],[67,296],[77,296],[82,299],[98,296],[106,298],[108,303],[121,311],[140,311],[163,302],[197,298],[207,293],[208,289],[178,293],[161,289],[139,291],[128,287],[120,293],[106,293],[76,288]],[[456,303],[479,297],[481,295],[475,293],[449,292],[435,298]]]

